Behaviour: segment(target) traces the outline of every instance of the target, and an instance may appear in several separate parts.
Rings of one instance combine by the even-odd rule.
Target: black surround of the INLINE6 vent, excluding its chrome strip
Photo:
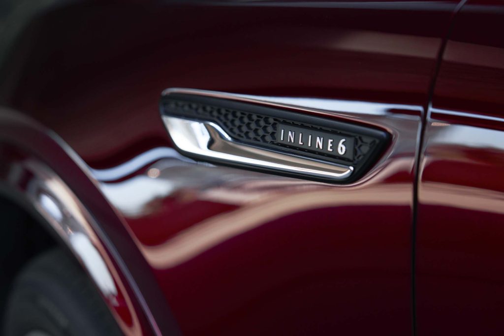
[[[361,177],[383,153],[390,138],[387,132],[380,129],[194,94],[170,93],[163,96],[160,101],[160,109],[162,115],[212,121],[222,127],[234,141],[242,144],[311,160],[352,166],[354,168],[353,174],[343,183],[349,183]],[[326,151],[314,146],[307,148],[307,146],[300,146],[295,142],[281,141],[281,127],[289,125],[291,125],[291,130],[302,130],[313,136],[324,136]],[[299,135],[299,132],[297,134]],[[348,147],[352,148],[352,153],[339,155],[338,143],[334,141],[332,142],[333,146],[330,147],[333,151],[327,151],[329,135],[334,141],[338,140],[338,143],[345,138],[345,147],[347,150]],[[302,143],[305,144],[304,141]],[[183,154],[187,155],[187,153]],[[222,164],[223,162],[217,163]],[[342,183],[342,181],[338,182]]]

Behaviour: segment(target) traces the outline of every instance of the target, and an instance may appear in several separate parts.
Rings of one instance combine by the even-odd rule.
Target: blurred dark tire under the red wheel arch
[[[66,251],[32,259],[16,279],[7,304],[6,336],[122,334],[88,276]]]

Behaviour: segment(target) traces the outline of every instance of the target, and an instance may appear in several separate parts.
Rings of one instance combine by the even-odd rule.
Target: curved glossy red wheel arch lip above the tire
[[[29,218],[31,227],[44,232],[39,239],[72,252],[124,334],[177,334],[167,305],[147,304],[141,288],[149,288],[149,297],[158,295],[150,285],[152,275],[95,183],[85,163],[57,135],[21,112],[0,108],[0,197],[5,204],[14,204],[13,214]],[[163,313],[163,325],[153,308]]]

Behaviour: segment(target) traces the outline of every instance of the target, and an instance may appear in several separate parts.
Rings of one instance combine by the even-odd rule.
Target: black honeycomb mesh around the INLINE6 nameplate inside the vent
[[[332,129],[293,122],[257,113],[244,112],[235,109],[217,107],[196,102],[188,102],[183,100],[167,100],[164,102],[163,107],[165,111],[167,111],[170,115],[213,121],[221,126],[222,129],[224,129],[231,138],[238,141],[247,143],[259,143],[266,146],[274,146],[276,148],[289,148],[290,150],[297,152],[305,152],[317,156],[325,156],[329,159],[334,160],[334,157],[331,157],[329,155],[324,155],[310,150],[299,149],[276,142],[276,132],[279,122],[290,123],[307,128],[315,128],[331,133],[340,133]],[[376,141],[370,137],[359,136],[351,133],[345,134],[349,134],[350,136],[353,136],[355,138],[354,159],[348,160],[345,158],[340,158],[340,160],[352,161],[356,163],[362,160],[369,152],[369,150],[376,145]]]

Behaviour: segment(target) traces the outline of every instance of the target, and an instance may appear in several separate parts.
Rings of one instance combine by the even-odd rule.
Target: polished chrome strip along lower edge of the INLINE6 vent
[[[162,118],[171,139],[181,151],[203,158],[336,180],[347,178],[353,172],[352,166],[323,163],[243,145],[233,141],[213,122],[166,115]]]

